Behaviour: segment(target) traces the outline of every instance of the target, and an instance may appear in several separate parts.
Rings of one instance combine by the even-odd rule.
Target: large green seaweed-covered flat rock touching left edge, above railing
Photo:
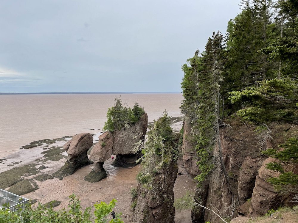
[[[25,165],[23,167],[14,167],[10,170],[4,171],[0,173],[0,189],[6,189],[23,180],[22,176],[25,174],[35,175],[40,171],[34,167],[34,164]]]

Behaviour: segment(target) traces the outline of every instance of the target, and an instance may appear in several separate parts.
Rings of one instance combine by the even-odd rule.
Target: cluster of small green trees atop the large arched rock
[[[133,109],[131,109],[127,108],[126,105],[123,106],[120,97],[116,97],[114,106],[108,108],[107,121],[103,130],[113,132],[127,128],[138,122],[143,114],[145,114],[145,111],[139,106],[138,102],[135,102]]]

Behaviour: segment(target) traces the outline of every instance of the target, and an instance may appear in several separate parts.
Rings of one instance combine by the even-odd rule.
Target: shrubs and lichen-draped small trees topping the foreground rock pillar
[[[137,175],[137,180],[150,188],[151,179],[159,169],[167,166],[176,156],[177,148],[173,143],[173,131],[170,127],[170,117],[165,110],[163,116],[154,122],[148,133],[148,139],[142,150],[142,171]]]

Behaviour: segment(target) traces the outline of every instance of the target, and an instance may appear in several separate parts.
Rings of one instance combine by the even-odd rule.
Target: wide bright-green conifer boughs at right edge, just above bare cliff
[[[259,84],[259,87],[230,92],[232,103],[245,106],[237,114],[243,120],[253,123],[298,123],[298,82],[274,78],[260,81]]]

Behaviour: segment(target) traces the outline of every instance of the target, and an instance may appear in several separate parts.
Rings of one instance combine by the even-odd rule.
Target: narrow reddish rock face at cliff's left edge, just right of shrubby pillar
[[[182,154],[183,154],[183,167],[187,172],[195,177],[198,175],[198,156],[195,150],[196,141],[191,132],[192,125],[188,120],[185,120],[183,123],[183,143],[182,143]]]

